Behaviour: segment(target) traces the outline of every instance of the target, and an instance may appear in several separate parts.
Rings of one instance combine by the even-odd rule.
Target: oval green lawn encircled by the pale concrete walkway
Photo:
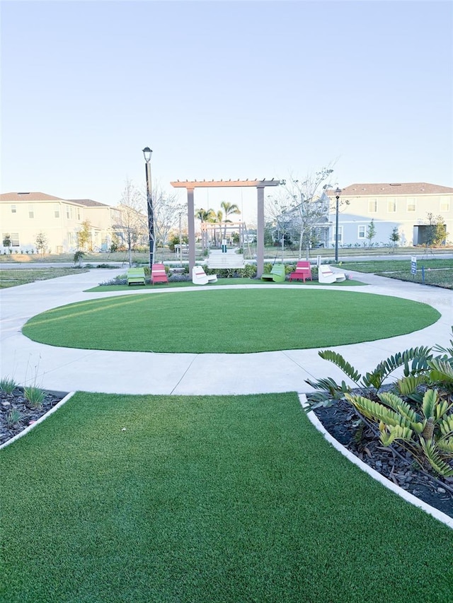
[[[30,319],[23,333],[54,346],[245,353],[352,344],[413,332],[429,305],[352,291],[212,288],[89,300]]]

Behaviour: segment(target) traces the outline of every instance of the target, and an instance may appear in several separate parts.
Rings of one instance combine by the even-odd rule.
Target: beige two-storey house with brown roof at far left
[[[45,235],[47,253],[74,252],[86,221],[88,247],[108,250],[120,217],[120,209],[91,199],[61,199],[42,192],[0,194],[1,253],[36,252],[38,233]]]

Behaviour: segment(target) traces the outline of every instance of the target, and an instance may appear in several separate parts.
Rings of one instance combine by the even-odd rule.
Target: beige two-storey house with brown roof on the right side
[[[336,196],[331,199],[328,244],[335,242]],[[340,194],[338,243],[342,247],[367,245],[367,228],[373,220],[373,245],[389,245],[394,228],[400,235],[399,245],[423,245],[428,214],[441,216],[447,227],[447,243],[453,241],[453,188],[428,182],[394,182],[355,184]]]

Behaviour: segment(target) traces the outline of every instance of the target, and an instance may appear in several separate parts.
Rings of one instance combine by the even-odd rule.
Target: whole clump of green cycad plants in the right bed
[[[314,409],[344,399],[360,420],[371,426],[382,445],[402,447],[420,469],[451,477],[453,340],[451,343],[451,348],[419,347],[396,353],[365,375],[360,375],[340,354],[320,351],[321,358],[333,362],[348,375],[358,392],[344,381],[338,384],[330,377],[316,382],[306,380],[316,390],[322,390],[307,396],[309,405]],[[442,356],[433,357],[432,350],[442,352]],[[384,380],[397,368],[403,368],[403,376],[388,391],[382,391]]]

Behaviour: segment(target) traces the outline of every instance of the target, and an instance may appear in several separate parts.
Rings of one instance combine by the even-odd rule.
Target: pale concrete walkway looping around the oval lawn
[[[176,288],[146,292],[134,289],[130,292],[83,293],[85,289],[124,271],[93,269],[84,274],[1,290],[1,376],[13,377],[21,385],[35,382],[44,389],[61,392],[84,390],[181,395],[302,393],[311,391],[311,387],[305,383],[306,379],[326,376],[336,380],[345,378],[333,364],[319,358],[317,349],[251,354],[96,351],[37,344],[21,333],[23,324],[30,317],[59,305],[112,295],[159,295],[161,291],[183,295],[192,291],[192,288]],[[442,315],[431,327],[412,334],[331,348],[342,353],[355,368],[361,372],[371,370],[391,354],[415,346],[449,345],[452,339],[453,291],[348,272],[354,279],[369,283],[369,286],[335,288],[336,291],[393,295],[428,303]],[[219,294],[224,288],[219,288]],[[373,317],[370,316],[369,320],[373,320]]]

